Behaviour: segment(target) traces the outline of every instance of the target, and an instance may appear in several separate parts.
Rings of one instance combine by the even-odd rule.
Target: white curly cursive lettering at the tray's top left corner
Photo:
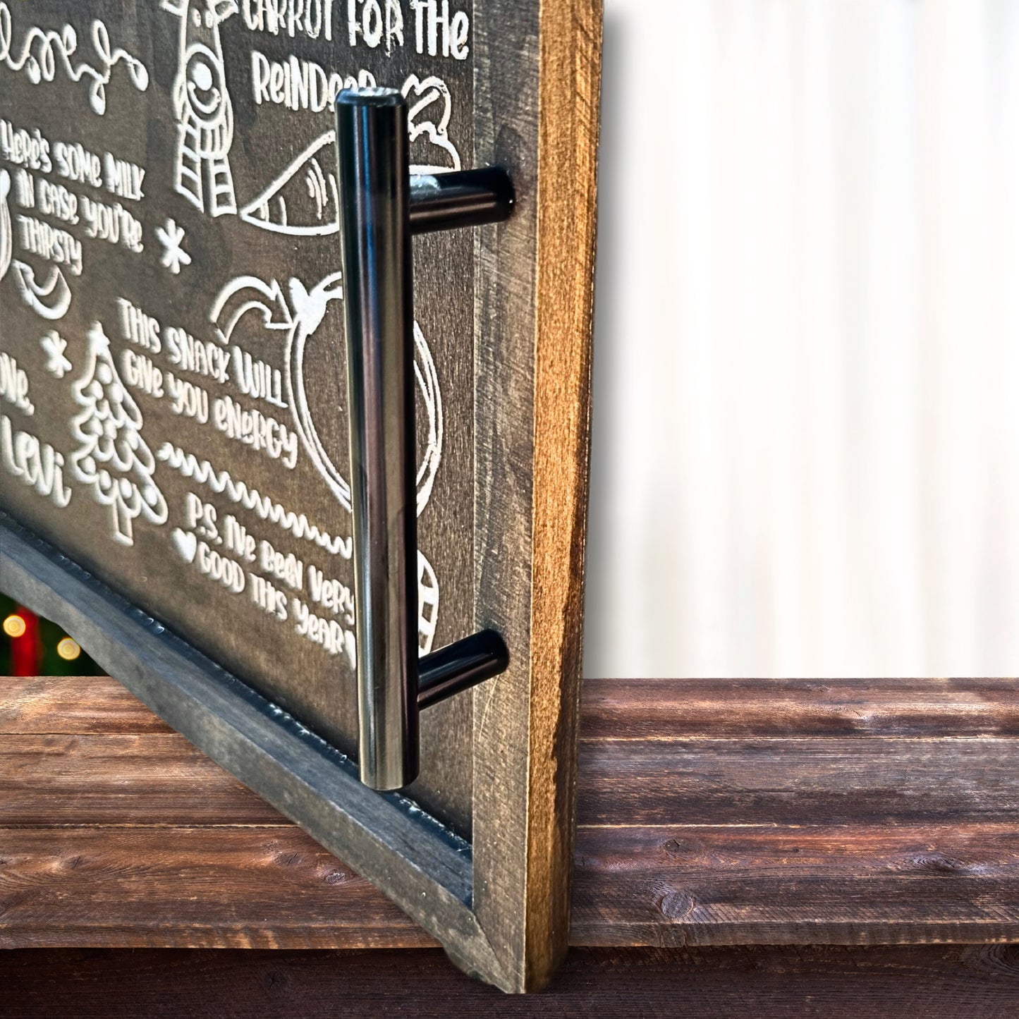
[[[149,88],[149,71],[145,64],[126,50],[112,49],[109,33],[102,21],[92,22],[92,45],[103,70],[98,70],[89,63],[83,62],[76,67],[71,63],[70,58],[77,50],[77,33],[69,24],[65,24],[59,33],[39,28],[30,29],[22,40],[19,57],[11,55],[13,38],[10,7],[6,3],[0,3],[0,63],[6,64],[15,73],[24,68],[29,81],[33,85],[39,85],[40,82],[52,82],[56,77],[59,56],[65,73],[72,82],[81,82],[86,75],[93,79],[89,87],[89,105],[100,116],[106,112],[106,86],[113,68],[121,60],[127,65],[135,88],[139,92],[145,92]],[[35,53],[32,52],[34,48]]]

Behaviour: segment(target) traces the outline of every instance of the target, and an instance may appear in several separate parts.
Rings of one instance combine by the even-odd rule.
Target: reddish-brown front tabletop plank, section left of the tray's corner
[[[435,942],[290,824],[0,828],[0,947]]]

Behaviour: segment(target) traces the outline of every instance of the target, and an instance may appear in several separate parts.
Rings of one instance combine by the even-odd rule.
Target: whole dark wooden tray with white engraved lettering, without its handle
[[[400,88],[412,172],[511,172],[511,221],[419,237],[414,268],[419,646],[491,626],[513,665],[426,712],[421,777],[374,799],[445,832],[485,961],[411,912],[515,989],[566,937],[599,24],[581,0],[0,2],[3,585],[330,848],[272,712],[292,753],[356,760],[332,100]],[[339,809],[370,837],[362,801]],[[408,908],[392,853],[364,866]]]

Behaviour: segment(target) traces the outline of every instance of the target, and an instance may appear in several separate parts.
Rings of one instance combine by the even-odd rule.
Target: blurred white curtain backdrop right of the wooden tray
[[[605,0],[585,675],[1019,675],[1019,0]]]

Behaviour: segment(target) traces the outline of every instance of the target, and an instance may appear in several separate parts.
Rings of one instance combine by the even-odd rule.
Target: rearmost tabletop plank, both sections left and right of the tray
[[[582,740],[1019,736],[1019,680],[585,680]],[[0,734],[165,733],[106,676],[0,677]]]

